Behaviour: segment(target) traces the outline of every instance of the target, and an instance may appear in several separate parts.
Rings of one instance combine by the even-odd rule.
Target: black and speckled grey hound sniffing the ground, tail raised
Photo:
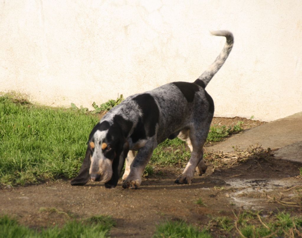
[[[213,118],[214,102],[205,87],[233,47],[231,32],[212,34],[226,37],[226,43],[214,63],[194,83],[173,82],[132,95],[101,119],[89,135],[85,159],[71,185],[84,185],[91,178],[113,188],[126,159],[123,188],[138,188],[153,150],[165,139],[175,137],[186,141],[191,150],[191,158],[175,182],[191,183],[196,167],[199,175],[206,171],[203,145]]]

